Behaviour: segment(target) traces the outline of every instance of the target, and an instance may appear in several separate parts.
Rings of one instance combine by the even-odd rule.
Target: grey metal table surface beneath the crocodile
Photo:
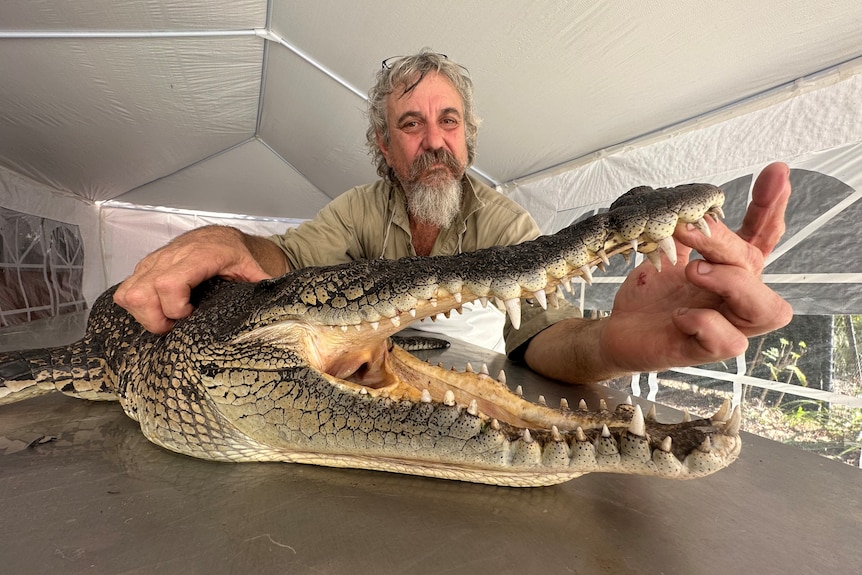
[[[52,337],[65,343],[79,327]],[[47,342],[27,328],[0,349]],[[549,402],[625,399],[467,345],[428,357],[505,367],[510,385]],[[43,437],[53,440],[28,447]],[[744,432],[730,468],[679,482],[590,474],[514,489],[213,463],[150,444],[115,403],[57,393],[0,406],[0,571],[859,573],[860,482],[850,466]]]

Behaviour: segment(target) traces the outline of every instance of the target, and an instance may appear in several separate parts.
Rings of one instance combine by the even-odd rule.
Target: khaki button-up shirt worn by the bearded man
[[[536,222],[518,204],[472,177],[464,178],[464,186],[467,193],[462,215],[437,236],[432,256],[513,245],[539,236]],[[407,218],[407,199],[401,188],[385,180],[351,188],[320,210],[313,220],[269,239],[284,251],[293,269],[416,255]],[[524,305],[520,329],[512,329],[506,322],[507,353],[512,356],[513,351],[552,323],[579,315],[579,310],[562,302],[560,309],[547,312],[538,306]],[[523,349],[518,352],[514,355],[520,356]]]

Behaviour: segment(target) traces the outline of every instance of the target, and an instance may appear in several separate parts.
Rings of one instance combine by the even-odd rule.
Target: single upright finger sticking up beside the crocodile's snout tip
[[[769,255],[784,235],[784,212],[790,198],[790,168],[776,162],[766,166],[751,192],[739,237]]]

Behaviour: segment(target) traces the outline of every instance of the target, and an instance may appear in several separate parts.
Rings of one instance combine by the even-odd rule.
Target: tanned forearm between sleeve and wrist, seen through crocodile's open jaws
[[[524,361],[533,371],[567,383],[592,383],[626,375],[605,357],[601,348],[604,321],[607,320],[559,321],[530,340]]]

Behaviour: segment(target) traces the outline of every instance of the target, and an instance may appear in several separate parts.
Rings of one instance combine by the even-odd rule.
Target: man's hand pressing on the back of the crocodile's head
[[[114,301],[149,331],[165,333],[176,320],[192,313],[191,290],[201,282],[216,276],[251,282],[271,277],[258,263],[250,244],[260,246],[255,251],[262,249],[279,257],[264,247],[270,244],[280,254],[272,242],[245,236],[233,228],[192,230],[142,259],[120,284]]]

